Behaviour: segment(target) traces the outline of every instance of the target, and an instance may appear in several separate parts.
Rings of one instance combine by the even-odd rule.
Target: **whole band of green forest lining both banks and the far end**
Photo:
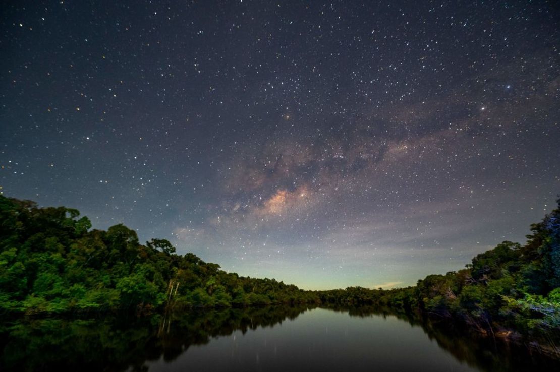
[[[68,314],[310,304],[375,306],[452,319],[481,332],[560,334],[560,199],[525,244],[502,242],[465,269],[393,290],[307,291],[220,270],[122,224],[91,229],[76,209],[0,195],[0,312]]]

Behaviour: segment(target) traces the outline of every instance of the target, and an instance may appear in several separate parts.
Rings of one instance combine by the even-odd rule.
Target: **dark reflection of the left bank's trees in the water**
[[[0,370],[145,370],[176,359],[190,345],[240,329],[273,327],[307,307],[200,310],[143,318],[21,319],[0,326]]]

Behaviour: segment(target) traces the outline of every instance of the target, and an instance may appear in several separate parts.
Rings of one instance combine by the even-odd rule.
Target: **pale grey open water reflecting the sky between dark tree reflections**
[[[475,371],[394,316],[349,317],[314,309],[293,321],[235,331],[190,347],[176,360],[148,362],[150,371]]]

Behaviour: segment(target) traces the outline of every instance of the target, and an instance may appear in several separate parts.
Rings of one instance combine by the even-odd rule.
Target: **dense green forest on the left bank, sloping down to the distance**
[[[220,270],[122,224],[90,230],[75,209],[0,195],[0,312],[67,313],[312,303],[316,294]]]

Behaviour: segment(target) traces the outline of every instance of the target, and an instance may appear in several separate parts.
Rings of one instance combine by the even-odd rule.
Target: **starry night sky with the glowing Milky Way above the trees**
[[[0,6],[0,190],[304,289],[413,285],[560,192],[560,11]]]

